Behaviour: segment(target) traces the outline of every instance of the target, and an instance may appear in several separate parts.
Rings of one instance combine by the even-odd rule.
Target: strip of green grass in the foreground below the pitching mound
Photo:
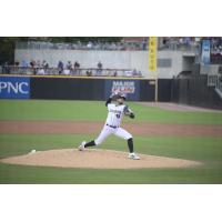
[[[202,184],[222,183],[216,169],[90,170],[0,165],[1,183]]]

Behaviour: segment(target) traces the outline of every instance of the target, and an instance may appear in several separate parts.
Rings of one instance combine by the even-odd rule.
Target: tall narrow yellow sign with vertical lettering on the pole
[[[149,37],[149,70],[157,71],[157,37]]]

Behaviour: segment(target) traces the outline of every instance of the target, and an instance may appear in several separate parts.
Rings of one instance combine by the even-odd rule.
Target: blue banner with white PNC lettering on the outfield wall
[[[28,77],[0,77],[1,99],[29,99],[30,78]]]

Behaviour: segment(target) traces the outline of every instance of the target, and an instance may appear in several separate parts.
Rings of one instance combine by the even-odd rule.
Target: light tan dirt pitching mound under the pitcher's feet
[[[2,159],[1,162],[21,165],[90,169],[141,169],[141,168],[191,168],[199,162],[140,154],[141,160],[129,160],[127,152],[111,150],[73,149],[39,151]]]

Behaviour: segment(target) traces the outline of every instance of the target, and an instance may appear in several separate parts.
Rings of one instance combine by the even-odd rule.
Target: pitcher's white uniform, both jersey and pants
[[[120,128],[122,117],[125,112],[131,111],[125,104],[108,104],[108,118],[105,124],[100,133],[100,135],[94,140],[94,143],[98,145],[102,143],[102,141],[109,137],[110,134],[114,134],[117,137],[123,138],[124,140],[129,140],[132,135],[124,129]]]

